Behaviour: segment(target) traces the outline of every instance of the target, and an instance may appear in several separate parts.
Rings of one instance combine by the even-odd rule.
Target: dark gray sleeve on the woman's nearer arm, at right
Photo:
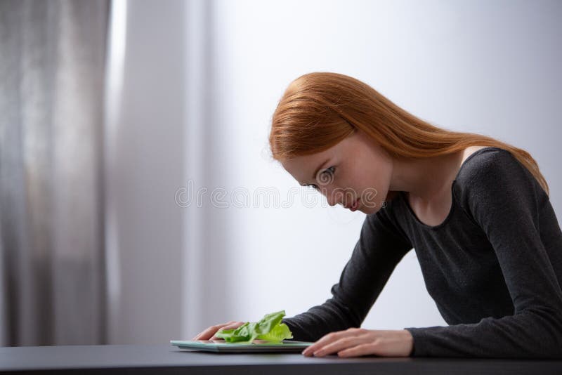
[[[549,197],[509,152],[483,160],[457,194],[495,251],[514,314],[405,328],[412,356],[562,358],[561,231]]]

